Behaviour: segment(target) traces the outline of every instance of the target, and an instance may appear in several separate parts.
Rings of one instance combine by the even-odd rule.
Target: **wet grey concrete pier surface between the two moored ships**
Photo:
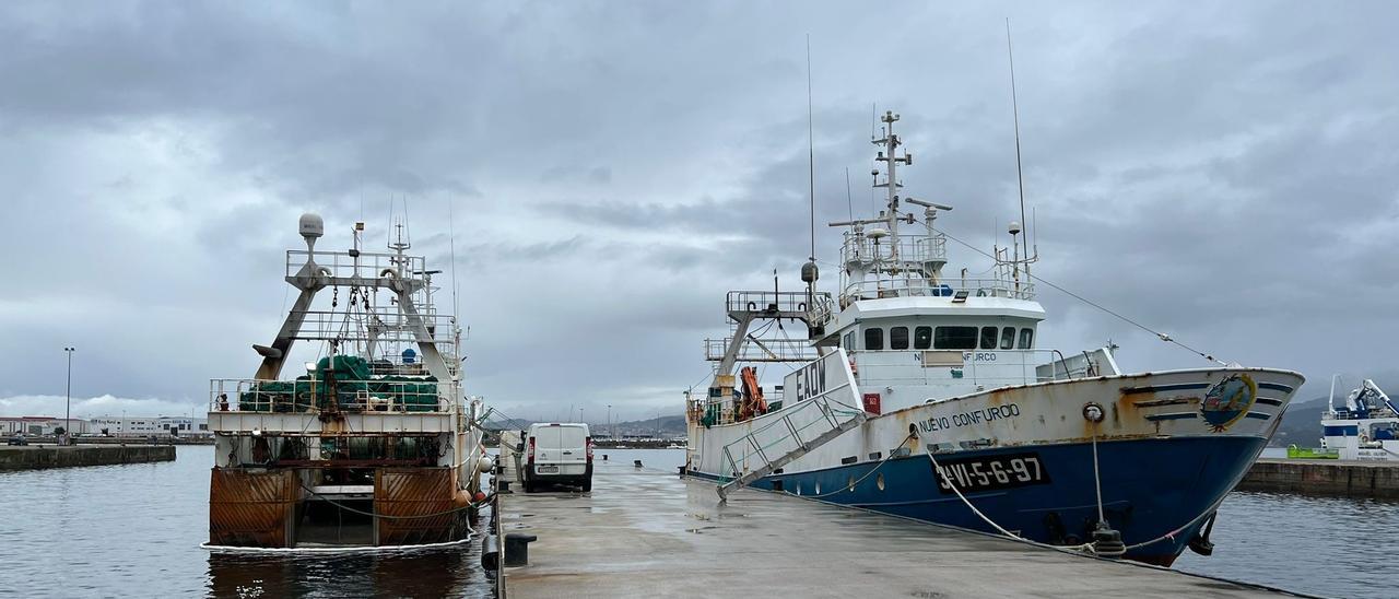
[[[719,505],[711,481],[596,467],[592,493],[501,497],[504,532],[539,536],[506,596],[1286,596],[774,493]]]

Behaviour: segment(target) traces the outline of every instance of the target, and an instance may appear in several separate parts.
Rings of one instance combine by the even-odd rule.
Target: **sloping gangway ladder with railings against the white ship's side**
[[[832,389],[832,390],[838,390],[838,389]],[[813,418],[813,414],[810,411],[807,411],[807,410],[820,410],[821,414],[820,414],[820,417],[814,417]],[[804,413],[804,416],[807,416],[807,418],[810,418],[810,421],[806,423],[806,424],[802,424],[802,425],[795,424],[793,420],[792,420],[792,417],[803,414],[803,413]],[[774,473],[779,467],[786,466],[788,463],[792,463],[792,460],[795,460],[797,458],[802,458],[803,455],[809,453],[811,449],[816,449],[816,448],[818,448],[821,445],[825,445],[825,444],[834,441],[835,438],[838,438],[838,437],[841,437],[841,435],[844,435],[844,434],[846,434],[846,432],[858,428],[860,424],[865,424],[865,420],[869,418],[869,416],[865,413],[865,410],[859,410],[859,409],[853,409],[851,406],[845,406],[844,403],[839,403],[839,402],[835,402],[835,400],[830,399],[828,395],[823,395],[820,397],[809,399],[806,402],[802,402],[795,409],[785,409],[785,410],[782,410],[779,414],[782,414],[782,416],[776,421],[769,423],[767,425],[762,425],[762,427],[760,427],[760,428],[748,432],[747,435],[744,435],[739,441],[734,441],[734,442],[723,446],[723,458],[729,463],[730,472],[733,472],[734,474],[737,474],[740,472],[739,462],[733,459],[733,448],[734,446],[739,446],[740,449],[744,451],[744,455],[743,455],[744,463],[747,463],[748,459],[757,459],[757,460],[761,462],[761,466],[758,466],[758,467],[755,467],[753,470],[744,472],[743,474],[736,476],[733,480],[729,480],[727,483],[720,484],[719,488],[718,488],[718,491],[719,491],[719,501],[720,502],[723,502],[723,501],[726,501],[729,498],[729,491],[732,491],[734,488],[746,487],[750,483],[753,483],[754,480],[758,480],[758,479],[761,479],[764,476],[768,476],[768,474]],[[838,416],[849,416],[849,417],[846,420],[839,420]],[[818,427],[818,425],[823,425],[823,424],[828,425],[828,428],[825,428],[820,434],[816,434],[810,439],[803,439],[802,438],[802,431],[806,431],[809,428]],[[778,432],[779,434],[785,432],[785,434],[782,437],[779,437],[778,439],[775,439],[775,441],[764,445],[760,441],[760,435],[762,435],[764,432],[767,432],[767,431],[769,431],[769,430],[772,430],[772,428],[775,428],[778,425],[783,427],[783,428],[779,428]],[[807,434],[810,434],[810,431],[807,431]],[[768,459],[768,451],[769,449],[778,449],[778,451],[781,451],[781,448],[783,445],[785,446],[790,446],[790,449],[788,449],[785,453],[782,453],[781,456],[778,456],[775,459]],[[747,448],[753,448],[753,451],[747,452]]]

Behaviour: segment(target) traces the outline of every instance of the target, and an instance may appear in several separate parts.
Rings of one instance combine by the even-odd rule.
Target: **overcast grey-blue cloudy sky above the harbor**
[[[1038,274],[1307,396],[1396,372],[1392,3],[10,1],[0,414],[62,414],[70,344],[77,414],[201,411],[276,333],[297,216],[382,246],[393,197],[436,267],[455,231],[473,393],[679,413],[723,293],[797,283],[806,35],[817,218],[869,213],[877,105],[908,192],[989,246],[1017,211],[1006,17]],[[1039,300],[1044,344],[1207,365]]]

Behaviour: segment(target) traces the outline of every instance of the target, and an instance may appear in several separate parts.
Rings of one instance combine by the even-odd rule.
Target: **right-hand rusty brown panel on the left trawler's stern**
[[[381,467],[375,470],[374,511],[379,519],[378,544],[446,543],[470,532],[464,509],[456,501],[449,467]],[[424,518],[414,518],[424,516]]]

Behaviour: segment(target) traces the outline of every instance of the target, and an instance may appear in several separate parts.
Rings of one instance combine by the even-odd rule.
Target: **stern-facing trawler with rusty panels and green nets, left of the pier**
[[[323,221],[299,223],[287,252],[298,291],[249,379],[210,382],[214,432],[208,544],[386,547],[460,542],[476,518],[483,404],[462,390],[462,330],[434,305],[432,274],[400,220],[389,253],[315,248]],[[316,304],[330,291],[329,305]],[[325,297],[322,295],[322,300]],[[295,341],[315,361],[284,376]]]

